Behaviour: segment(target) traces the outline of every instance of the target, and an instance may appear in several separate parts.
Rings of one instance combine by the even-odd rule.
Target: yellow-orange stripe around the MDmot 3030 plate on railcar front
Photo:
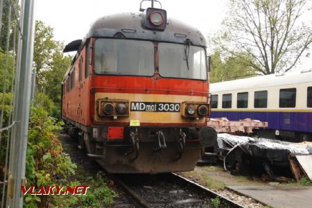
[[[207,102],[205,96],[180,96],[180,95],[166,95],[166,94],[124,94],[124,93],[96,93],[96,101],[100,98],[108,99],[125,99],[131,102],[155,102],[155,103],[182,103],[190,102]],[[182,105],[181,105],[182,106]],[[96,108],[95,108],[96,109]],[[189,119],[181,116],[180,112],[132,112],[127,117],[118,117],[112,119],[111,117],[98,116],[95,113],[95,120],[98,122],[126,122],[130,120],[139,120],[140,123],[205,123],[206,118]]]

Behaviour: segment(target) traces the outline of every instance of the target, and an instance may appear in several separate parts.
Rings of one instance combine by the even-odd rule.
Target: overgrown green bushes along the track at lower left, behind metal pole
[[[0,93],[1,96],[1,93]],[[10,94],[6,94],[6,105],[4,106],[4,123],[8,122],[8,103]],[[1,104],[0,104],[1,107]],[[35,196],[26,194],[24,196],[24,207],[103,207],[112,203],[116,192],[105,184],[103,174],[98,173],[96,178],[87,177],[79,182],[75,178],[76,164],[71,162],[69,155],[63,152],[62,144],[55,133],[62,129],[62,121],[50,116],[55,105],[44,94],[37,94],[28,128],[28,146],[26,153],[26,189],[35,186],[77,186],[87,185],[85,196]],[[50,112],[50,114],[49,114]],[[3,124],[4,125],[4,124]],[[3,132],[2,145],[0,146],[0,177],[3,178],[4,159],[6,153],[7,134]],[[85,184],[82,184],[85,183]],[[2,186],[0,187],[1,193]],[[1,196],[1,195],[0,195]]]

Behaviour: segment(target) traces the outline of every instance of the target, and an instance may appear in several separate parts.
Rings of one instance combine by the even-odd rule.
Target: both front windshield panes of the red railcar
[[[94,45],[94,69],[98,74],[153,76],[155,73],[153,42],[97,39]],[[158,54],[162,77],[207,80],[204,48],[160,42]]]

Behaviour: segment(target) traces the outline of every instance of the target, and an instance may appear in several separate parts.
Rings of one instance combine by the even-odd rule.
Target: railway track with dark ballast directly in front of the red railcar
[[[139,207],[242,207],[175,173],[110,177]]]

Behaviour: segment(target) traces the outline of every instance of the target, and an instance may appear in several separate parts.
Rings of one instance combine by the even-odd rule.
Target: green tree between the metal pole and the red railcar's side
[[[53,101],[52,116],[60,118],[61,82],[71,63],[64,56],[64,45],[53,40],[53,28],[42,21],[35,24],[34,62],[37,72],[37,89]]]

